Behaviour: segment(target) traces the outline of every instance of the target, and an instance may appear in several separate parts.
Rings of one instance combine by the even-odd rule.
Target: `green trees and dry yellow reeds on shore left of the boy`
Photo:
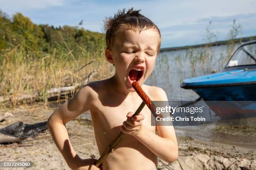
[[[29,100],[18,102],[17,97],[31,94],[46,107],[47,90],[53,87],[80,85],[92,71],[97,75],[91,80],[110,77],[113,66],[104,53],[102,33],[36,25],[21,13],[10,18],[0,10],[0,99],[11,98],[0,107],[26,104]],[[96,61],[83,67],[92,60]]]

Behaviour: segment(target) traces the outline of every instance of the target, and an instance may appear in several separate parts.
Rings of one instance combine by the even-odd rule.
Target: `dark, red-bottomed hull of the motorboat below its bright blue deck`
[[[256,116],[256,84],[205,87],[193,90],[219,117],[230,119]],[[246,105],[241,105],[242,101],[247,101]],[[249,104],[251,107],[246,108]]]

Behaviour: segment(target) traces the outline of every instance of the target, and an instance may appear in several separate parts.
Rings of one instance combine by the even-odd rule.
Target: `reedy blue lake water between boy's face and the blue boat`
[[[236,44],[234,49],[238,46]],[[229,49],[229,46],[221,45],[160,52],[154,71],[145,84],[163,88],[168,100],[195,100],[199,97],[195,92],[180,88],[182,80],[212,70],[221,72],[228,62]]]

